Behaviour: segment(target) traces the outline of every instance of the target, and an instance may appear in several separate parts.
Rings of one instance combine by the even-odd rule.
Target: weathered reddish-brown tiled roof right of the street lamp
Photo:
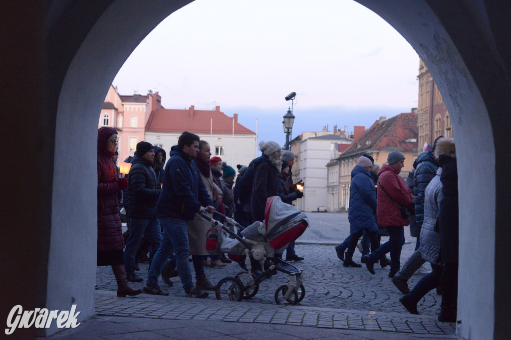
[[[411,112],[401,113],[383,122],[373,124],[356,142],[352,143],[341,155],[342,157],[361,153],[365,150],[399,150],[413,152],[417,142],[406,142],[417,138],[417,115]]]

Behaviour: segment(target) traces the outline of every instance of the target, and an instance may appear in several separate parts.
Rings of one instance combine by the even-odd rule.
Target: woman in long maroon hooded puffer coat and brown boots
[[[117,177],[113,155],[117,149],[117,132],[98,129],[98,255],[97,265],[111,265],[117,280],[117,296],[138,295],[141,289],[128,286],[124,269],[124,238],[119,217],[117,194],[128,187],[126,178]]]

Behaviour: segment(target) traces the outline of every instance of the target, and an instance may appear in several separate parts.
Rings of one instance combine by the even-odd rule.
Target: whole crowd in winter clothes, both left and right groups
[[[205,298],[216,285],[204,267],[224,267],[225,254],[211,256],[206,251],[210,223],[198,213],[215,211],[242,226],[263,221],[266,201],[278,196],[292,204],[303,197],[303,182],[293,183],[294,154],[282,151],[274,141],[259,143],[262,155],[248,165],[238,164],[238,175],[220,157],[211,157],[210,145],[199,136],[183,132],[169,153],[141,141],[133,157],[126,159],[131,169],[119,177],[117,132],[98,130],[98,258],[110,265],[120,297],[141,294],[169,295],[158,286],[158,277],[172,286],[179,277],[184,294]],[[371,274],[374,265],[389,266],[388,276],[404,296],[403,306],[418,314],[417,304],[436,288],[442,295],[438,320],[456,321],[458,270],[458,191],[456,148],[451,138],[439,137],[431,151],[421,153],[406,181],[400,176],[405,156],[397,150],[388,154],[381,167],[363,154],[351,173],[350,235],[335,247],[345,267],[360,268],[353,260],[356,248]],[[122,195],[121,195],[122,192]],[[120,204],[126,210],[128,231],[123,236]],[[404,226],[416,237],[415,252],[401,268],[405,242]],[[388,241],[381,244],[381,237]],[[359,243],[359,239],[362,238]],[[294,242],[286,249],[287,261],[301,261]],[[390,259],[386,256],[390,253]],[[276,254],[275,256],[282,256]],[[149,272],[143,289],[129,287],[128,281],[143,282],[136,272],[137,261],[147,260]],[[190,266],[192,262],[195,284]],[[410,290],[408,280],[425,262],[431,272]],[[257,266],[255,268],[257,270]]]

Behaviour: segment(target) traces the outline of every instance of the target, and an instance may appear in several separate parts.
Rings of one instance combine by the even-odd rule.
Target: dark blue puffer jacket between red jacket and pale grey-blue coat
[[[422,227],[424,222],[424,192],[438,170],[438,160],[431,151],[423,152],[416,159],[417,167],[413,178],[413,196],[415,196],[415,222]]]

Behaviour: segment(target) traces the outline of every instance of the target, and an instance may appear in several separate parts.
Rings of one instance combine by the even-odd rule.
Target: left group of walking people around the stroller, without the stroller
[[[291,204],[303,197],[292,181],[294,154],[282,152],[276,142],[260,142],[262,155],[249,165],[237,165],[238,175],[220,157],[211,157],[210,145],[199,136],[183,132],[169,153],[149,142],[136,145],[127,176],[119,177],[117,132],[98,129],[98,252],[97,264],[110,265],[118,283],[119,297],[145,292],[169,295],[158,278],[172,286],[179,277],[184,294],[205,298],[215,290],[204,267],[224,267],[225,254],[206,251],[210,216],[215,211],[236,218],[242,226],[264,220],[266,200],[280,196]],[[235,184],[236,179],[236,184]],[[303,182],[300,182],[303,185]],[[122,233],[119,207],[126,211],[128,230]],[[289,244],[286,260],[301,261]],[[147,279],[137,274],[139,261],[149,263]],[[195,284],[190,266],[192,262]],[[143,282],[133,289],[128,282]]]

